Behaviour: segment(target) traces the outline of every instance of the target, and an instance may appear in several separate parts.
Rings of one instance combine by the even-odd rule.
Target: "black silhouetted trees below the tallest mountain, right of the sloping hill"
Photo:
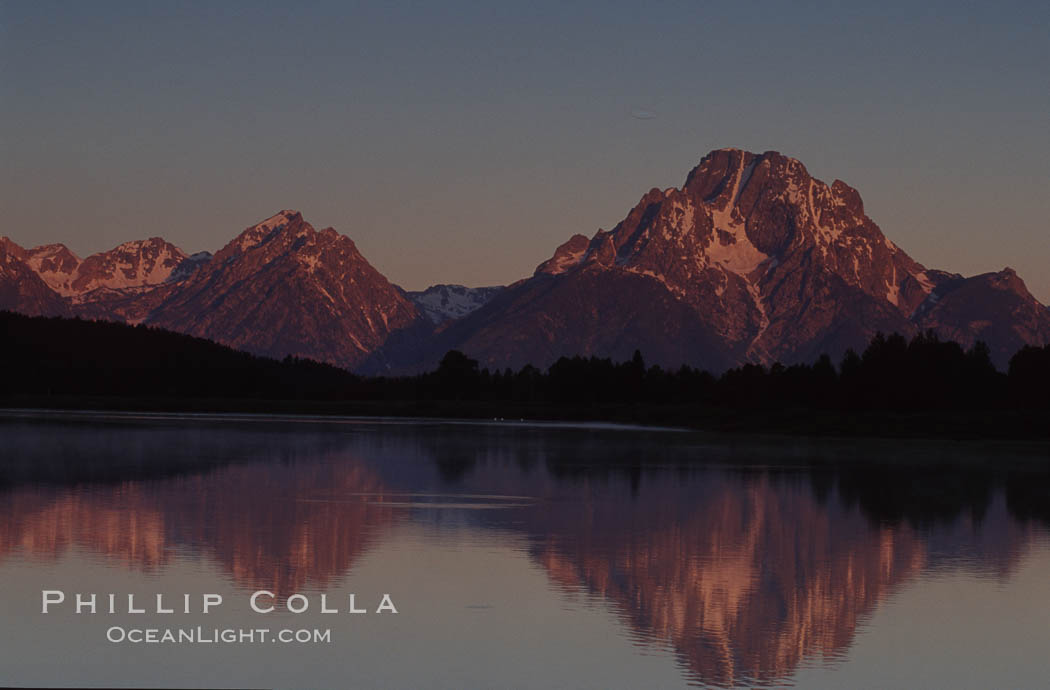
[[[746,364],[720,376],[681,367],[647,367],[639,352],[625,362],[563,357],[542,372],[526,365],[491,372],[449,352],[434,372],[362,381],[375,395],[413,399],[513,400],[567,404],[704,404],[733,409],[1003,410],[1047,407],[1050,346],[1026,347],[1008,373],[988,347],[969,350],[932,333],[907,340],[878,334],[863,353],[836,367],[827,355],[813,364]]]

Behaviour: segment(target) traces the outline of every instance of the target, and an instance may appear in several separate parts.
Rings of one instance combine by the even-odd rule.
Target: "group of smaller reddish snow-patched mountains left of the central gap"
[[[212,256],[153,237],[80,259],[62,245],[0,243],[0,308],[148,323],[256,354],[355,367],[424,321],[354,243],[295,211]]]

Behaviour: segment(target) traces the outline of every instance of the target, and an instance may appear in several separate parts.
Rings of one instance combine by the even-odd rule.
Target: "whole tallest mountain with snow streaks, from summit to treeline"
[[[877,332],[933,329],[990,341],[1000,365],[1050,339],[1047,311],[1016,275],[926,270],[864,213],[776,152],[713,151],[680,188],[652,189],[612,230],[574,235],[531,278],[454,322],[429,359],[460,349],[490,367],[561,355],[713,371],[807,361]],[[949,297],[949,295],[954,295]]]

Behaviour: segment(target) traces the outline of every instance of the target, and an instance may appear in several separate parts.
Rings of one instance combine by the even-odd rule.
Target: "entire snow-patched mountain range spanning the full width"
[[[712,151],[681,187],[651,189],[611,230],[573,235],[506,288],[406,292],[349,237],[285,210],[214,255],[152,237],[81,259],[0,238],[0,309],[149,323],[372,374],[429,369],[452,349],[490,368],[640,350],[717,372],[925,330],[983,340],[1003,367],[1050,341],[1050,311],[1013,270],[928,269],[844,182],[738,149]]]

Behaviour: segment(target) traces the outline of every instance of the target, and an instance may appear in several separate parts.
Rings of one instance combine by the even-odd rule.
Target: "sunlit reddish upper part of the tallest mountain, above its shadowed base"
[[[712,151],[680,188],[651,189],[615,228],[597,232],[585,250],[581,247],[574,236],[538,270],[555,274],[587,264],[622,267],[664,280],[680,296],[694,292],[702,274],[715,271],[744,278],[755,293],[786,255],[815,249],[823,258],[845,264],[830,268],[846,283],[901,309],[914,308],[916,301],[909,295],[908,304],[901,304],[902,281],[908,276],[920,292],[931,289],[923,267],[863,214],[855,189],[841,181],[830,187],[798,160],[776,151]],[[868,275],[880,264],[895,264],[897,272]],[[717,297],[723,294],[716,292]]]

